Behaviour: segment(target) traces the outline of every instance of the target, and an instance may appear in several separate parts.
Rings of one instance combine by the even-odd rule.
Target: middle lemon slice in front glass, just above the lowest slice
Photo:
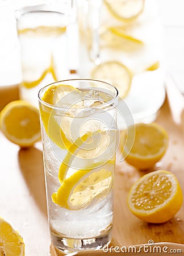
[[[95,167],[98,164],[104,164],[109,159],[114,159],[114,151],[111,148],[112,142],[115,141],[116,131],[90,131],[76,139],[76,141],[68,148],[68,152],[62,160],[59,172],[58,180],[60,183],[68,178],[76,169],[79,168],[91,169],[90,164],[93,164],[93,160],[97,161]],[[75,164],[73,166],[73,161]],[[76,160],[78,161],[76,163]],[[100,162],[101,161],[101,162]],[[87,167],[88,166],[88,167]],[[90,166],[90,167],[89,167]]]

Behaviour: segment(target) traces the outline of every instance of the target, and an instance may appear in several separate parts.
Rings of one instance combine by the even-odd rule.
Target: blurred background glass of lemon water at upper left
[[[15,12],[22,61],[20,98],[37,106],[44,85],[66,76],[66,1],[27,6]]]

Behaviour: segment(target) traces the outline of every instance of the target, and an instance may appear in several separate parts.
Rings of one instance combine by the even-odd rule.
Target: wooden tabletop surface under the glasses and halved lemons
[[[0,94],[0,109],[4,104],[1,97],[2,94]],[[177,176],[184,193],[184,122],[178,125],[174,123],[167,100],[158,113],[156,122],[168,131],[169,148],[154,170],[162,168],[172,171]],[[0,152],[0,215],[22,234],[26,243],[26,256],[49,255],[51,242],[48,232],[41,144],[39,142],[35,147],[27,150],[20,149],[0,133]],[[153,240],[154,243],[177,243],[182,247],[184,205],[172,220],[158,225],[141,221],[129,212],[127,207],[129,188],[144,174],[145,172],[136,170],[125,162],[120,163],[119,153],[117,154],[111,245],[120,247],[140,245]],[[57,255],[53,246],[51,253]],[[99,253],[104,254],[102,251]],[[96,254],[97,252],[92,252],[82,255]]]

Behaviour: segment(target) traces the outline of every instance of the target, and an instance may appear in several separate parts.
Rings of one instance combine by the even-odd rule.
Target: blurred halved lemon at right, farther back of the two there
[[[127,156],[126,161],[136,168],[143,170],[151,168],[164,156],[168,148],[168,133],[156,123],[136,124],[129,127],[129,134],[131,134],[131,130],[134,134],[134,129],[133,145],[132,139],[127,138],[126,133],[123,134],[121,142],[123,155]]]

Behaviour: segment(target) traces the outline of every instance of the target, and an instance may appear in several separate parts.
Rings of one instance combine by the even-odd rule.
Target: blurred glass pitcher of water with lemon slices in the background
[[[91,59],[93,33],[98,23],[97,9],[91,8],[91,2],[93,0],[78,0],[85,15],[89,14],[80,22],[81,40],[87,45],[88,59],[88,65],[80,70],[82,76],[115,85],[135,122],[152,122],[165,100],[162,26],[157,1],[102,1],[99,7],[99,52],[93,51],[97,57],[94,59],[98,61]],[[96,19],[93,19],[95,12]],[[121,108],[123,101],[119,101]]]

